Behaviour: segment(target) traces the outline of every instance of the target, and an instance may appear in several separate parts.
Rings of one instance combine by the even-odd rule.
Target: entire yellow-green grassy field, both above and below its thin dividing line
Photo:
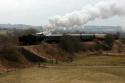
[[[70,65],[115,63],[116,67],[88,68],[64,65],[49,68],[32,67],[0,74],[0,83],[125,83],[124,62],[123,56],[79,56]],[[122,64],[122,67],[117,67],[119,64]]]

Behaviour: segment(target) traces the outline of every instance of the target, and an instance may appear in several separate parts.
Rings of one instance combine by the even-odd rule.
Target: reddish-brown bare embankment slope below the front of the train
[[[33,53],[45,61],[64,61],[69,53],[64,52],[58,47],[58,44],[41,44],[31,46],[21,46],[21,48]],[[27,55],[28,56],[28,55]]]

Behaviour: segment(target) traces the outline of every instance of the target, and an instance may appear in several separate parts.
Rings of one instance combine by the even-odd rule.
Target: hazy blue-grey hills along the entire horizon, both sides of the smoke
[[[0,24],[0,29],[28,29],[35,28],[39,32],[43,31],[42,26],[32,26],[25,24]],[[86,25],[77,28],[61,28],[58,27],[53,33],[122,33],[121,26],[94,26]]]

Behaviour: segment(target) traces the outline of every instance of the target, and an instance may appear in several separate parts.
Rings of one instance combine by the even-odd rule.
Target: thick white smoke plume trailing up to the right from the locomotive
[[[125,0],[101,1],[94,6],[88,5],[82,10],[68,13],[64,16],[55,16],[49,19],[49,26],[56,27],[75,27],[81,26],[89,21],[101,18],[106,19],[112,16],[125,15]]]

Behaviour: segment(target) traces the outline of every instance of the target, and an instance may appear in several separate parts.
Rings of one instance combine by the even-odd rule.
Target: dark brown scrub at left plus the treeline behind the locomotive
[[[13,33],[0,35],[0,62],[5,67],[24,67],[29,62],[22,56],[18,50],[18,36],[35,33],[35,29],[24,31],[15,30]]]

